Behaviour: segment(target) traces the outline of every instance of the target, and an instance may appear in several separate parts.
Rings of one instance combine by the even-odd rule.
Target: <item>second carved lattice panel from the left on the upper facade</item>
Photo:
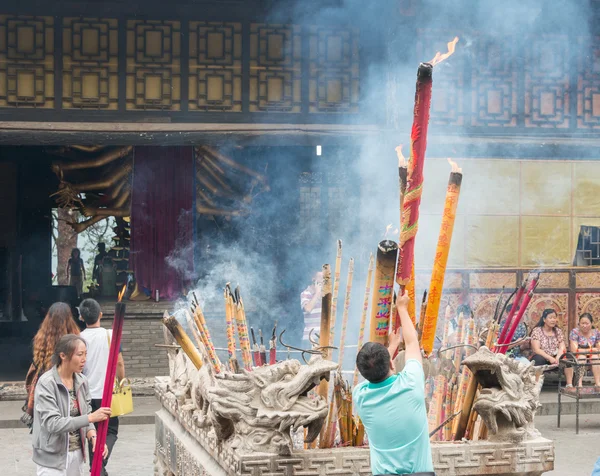
[[[116,110],[119,102],[118,21],[63,19],[63,108]]]

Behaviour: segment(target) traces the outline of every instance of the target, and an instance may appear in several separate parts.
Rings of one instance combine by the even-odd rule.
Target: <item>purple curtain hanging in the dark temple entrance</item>
[[[193,271],[192,147],[136,147],[130,258],[138,286],[174,299]]]

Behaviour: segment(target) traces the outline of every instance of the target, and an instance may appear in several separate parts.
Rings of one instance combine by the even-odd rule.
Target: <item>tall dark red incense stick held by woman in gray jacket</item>
[[[121,302],[123,294],[125,294],[125,289],[119,294],[119,302],[115,305],[112,338],[110,339],[106,378],[104,379],[104,390],[102,392],[102,407],[104,408],[110,408],[112,403],[113,388],[115,385],[115,377],[117,375],[117,361],[119,358],[119,348],[121,347],[123,321],[125,320],[125,303]],[[92,476],[100,476],[100,472],[102,471],[102,453],[104,452],[107,433],[108,420],[99,422],[98,430],[96,432],[96,451],[94,452],[94,460],[92,462]]]

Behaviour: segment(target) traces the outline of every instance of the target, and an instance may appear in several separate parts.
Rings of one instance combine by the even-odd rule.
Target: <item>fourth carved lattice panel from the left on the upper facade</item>
[[[242,24],[192,21],[190,111],[241,112]]]

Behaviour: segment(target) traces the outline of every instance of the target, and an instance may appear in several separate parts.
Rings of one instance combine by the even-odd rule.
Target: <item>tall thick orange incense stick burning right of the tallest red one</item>
[[[460,195],[460,185],[462,183],[461,170],[454,162],[451,162],[451,164],[452,172],[450,173],[450,179],[448,180],[442,225],[440,228],[437,249],[435,251],[431,282],[429,284],[427,311],[425,313],[425,321],[423,322],[421,346],[425,351],[425,354],[430,354],[433,350],[440,301],[442,299],[442,290],[444,288],[444,276],[446,274],[448,254],[450,252],[450,244],[452,243],[452,231],[454,230],[454,222],[456,220],[458,197]]]

